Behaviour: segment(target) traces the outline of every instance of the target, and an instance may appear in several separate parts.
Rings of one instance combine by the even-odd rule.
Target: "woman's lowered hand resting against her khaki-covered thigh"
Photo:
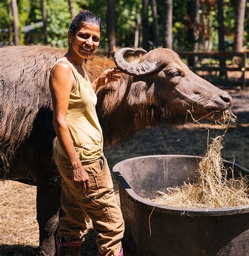
[[[74,186],[76,189],[82,190],[84,193],[90,190],[91,184],[89,176],[86,170],[82,167],[81,162],[78,167],[74,168],[72,180],[74,181]]]

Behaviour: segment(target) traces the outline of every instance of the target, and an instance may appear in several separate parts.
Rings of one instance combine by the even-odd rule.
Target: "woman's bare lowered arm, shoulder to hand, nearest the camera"
[[[78,189],[90,189],[89,177],[82,167],[66,124],[70,92],[76,83],[71,67],[60,62],[51,70],[49,89],[53,103],[53,125],[61,148],[67,155],[73,170],[72,179]]]

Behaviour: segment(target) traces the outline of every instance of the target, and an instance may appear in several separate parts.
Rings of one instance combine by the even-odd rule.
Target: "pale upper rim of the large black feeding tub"
[[[149,201],[145,198],[140,197],[134,190],[130,187],[126,179],[121,175],[119,172],[120,166],[122,166],[126,162],[134,161],[136,159],[143,159],[143,158],[155,158],[155,157],[182,157],[182,158],[195,158],[200,159],[203,157],[200,156],[191,156],[191,155],[148,155],[148,156],[138,156],[132,157],[128,159],[124,159],[115,166],[113,166],[112,171],[115,174],[116,179],[120,184],[123,186],[124,190],[128,193],[129,198],[134,202],[143,204],[147,208],[151,209],[152,211],[158,212],[165,212],[169,214],[178,214],[178,215],[186,215],[186,216],[224,216],[224,215],[235,215],[235,214],[244,214],[249,212],[249,204],[245,204],[244,206],[234,206],[234,207],[220,207],[220,208],[205,208],[205,209],[198,209],[198,208],[183,208],[183,207],[174,207],[174,206],[161,206],[158,203]],[[224,162],[230,163],[243,171],[247,172],[249,175],[249,170],[244,168],[237,163],[233,163],[231,161],[224,160]]]

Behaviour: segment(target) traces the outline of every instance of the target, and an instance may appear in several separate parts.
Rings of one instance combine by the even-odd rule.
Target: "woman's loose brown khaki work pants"
[[[63,237],[68,242],[83,241],[86,217],[92,220],[97,233],[96,243],[101,255],[116,256],[121,249],[124,223],[121,210],[116,202],[107,160],[101,169],[100,159],[82,163],[87,171],[91,189],[83,193],[74,187],[72,168],[69,161],[55,150],[54,159],[63,177],[61,181],[61,208],[64,216],[59,219],[57,239]],[[81,233],[82,232],[82,233]]]

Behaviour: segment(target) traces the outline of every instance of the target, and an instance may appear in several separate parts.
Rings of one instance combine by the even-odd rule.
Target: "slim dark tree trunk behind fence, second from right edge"
[[[219,52],[225,52],[224,41],[224,17],[223,17],[223,0],[217,0],[218,3],[218,22],[219,22]],[[221,76],[226,75],[226,72],[222,70],[225,68],[225,58],[220,58]]]

